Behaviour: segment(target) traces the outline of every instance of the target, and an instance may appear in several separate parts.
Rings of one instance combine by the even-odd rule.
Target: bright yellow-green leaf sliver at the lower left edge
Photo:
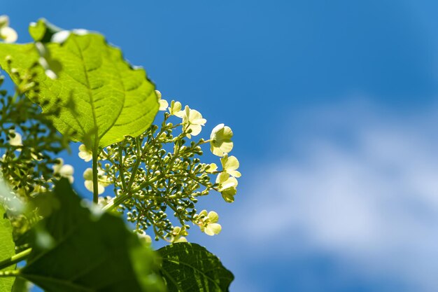
[[[15,255],[15,244],[12,238],[12,225],[4,217],[5,209],[0,204],[0,260],[6,260]],[[15,265],[6,267],[2,271],[15,270]],[[0,277],[0,292],[10,292],[14,284],[13,277]]]

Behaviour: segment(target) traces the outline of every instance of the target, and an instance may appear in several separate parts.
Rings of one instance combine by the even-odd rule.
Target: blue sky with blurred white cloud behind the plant
[[[190,235],[231,291],[436,291],[436,1],[5,2],[19,41],[41,17],[101,32],[206,137],[232,127],[236,202]]]

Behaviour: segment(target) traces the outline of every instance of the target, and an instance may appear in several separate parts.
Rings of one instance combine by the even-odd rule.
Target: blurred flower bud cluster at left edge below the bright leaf
[[[0,22],[3,23],[1,17]],[[52,189],[56,179],[65,177],[73,181],[73,167],[57,158],[59,152],[69,149],[69,137],[59,134],[49,118],[59,109],[42,113],[28,98],[36,98],[39,91],[33,79],[35,67],[17,70],[13,68],[14,60],[10,57],[7,60],[17,86],[13,95],[0,90],[0,177],[14,196],[34,204],[41,193]],[[3,79],[0,76],[0,86]],[[25,214],[15,214],[13,209],[6,211],[15,239],[41,218],[38,208]]]

